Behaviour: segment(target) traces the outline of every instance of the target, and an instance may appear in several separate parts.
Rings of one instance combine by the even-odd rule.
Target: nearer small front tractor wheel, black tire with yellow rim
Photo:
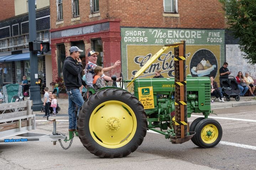
[[[194,137],[202,148],[212,148],[216,146],[222,137],[222,128],[218,121],[214,119],[203,119],[195,126]]]

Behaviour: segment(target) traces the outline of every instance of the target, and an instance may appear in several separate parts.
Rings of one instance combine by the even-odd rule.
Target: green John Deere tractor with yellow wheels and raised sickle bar
[[[188,140],[202,148],[216,146],[222,137],[218,121],[209,119],[210,79],[185,75],[185,42],[165,45],[135,75],[122,80],[134,85],[134,94],[104,87],[85,100],[77,126],[83,145],[98,157],[121,158],[134,152],[147,129],[163,134],[174,144]],[[174,78],[136,79],[168,48],[174,47]],[[190,125],[192,113],[203,113]]]

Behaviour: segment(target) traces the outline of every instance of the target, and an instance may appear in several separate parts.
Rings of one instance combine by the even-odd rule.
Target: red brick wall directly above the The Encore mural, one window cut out
[[[163,17],[163,0],[109,0],[109,17],[121,26],[168,28],[224,28],[218,0],[178,0],[179,17]]]

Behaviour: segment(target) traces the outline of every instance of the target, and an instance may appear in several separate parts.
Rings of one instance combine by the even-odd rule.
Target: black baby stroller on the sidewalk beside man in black
[[[227,76],[227,78],[220,78],[221,93],[226,101],[230,101],[230,97],[235,98],[236,101],[240,100],[240,90],[236,79],[233,76]]]

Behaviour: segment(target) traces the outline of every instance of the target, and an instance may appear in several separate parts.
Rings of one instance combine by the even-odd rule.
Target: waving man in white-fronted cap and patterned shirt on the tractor
[[[92,88],[93,88],[93,78],[95,76],[94,67],[97,66],[97,64],[96,64],[97,59],[98,59],[97,55],[99,55],[99,52],[90,51],[88,53],[89,62],[85,66],[85,75],[86,75],[87,85],[89,87],[92,87]],[[113,68],[116,68],[116,66],[120,65],[120,63],[121,62],[119,60],[117,60],[113,66],[103,68],[103,72],[108,72],[109,70],[112,70]],[[108,77],[105,74],[103,74],[101,77],[106,81],[113,81],[113,80],[111,80],[111,77]],[[117,78],[116,82],[119,82],[120,79],[121,78]]]

